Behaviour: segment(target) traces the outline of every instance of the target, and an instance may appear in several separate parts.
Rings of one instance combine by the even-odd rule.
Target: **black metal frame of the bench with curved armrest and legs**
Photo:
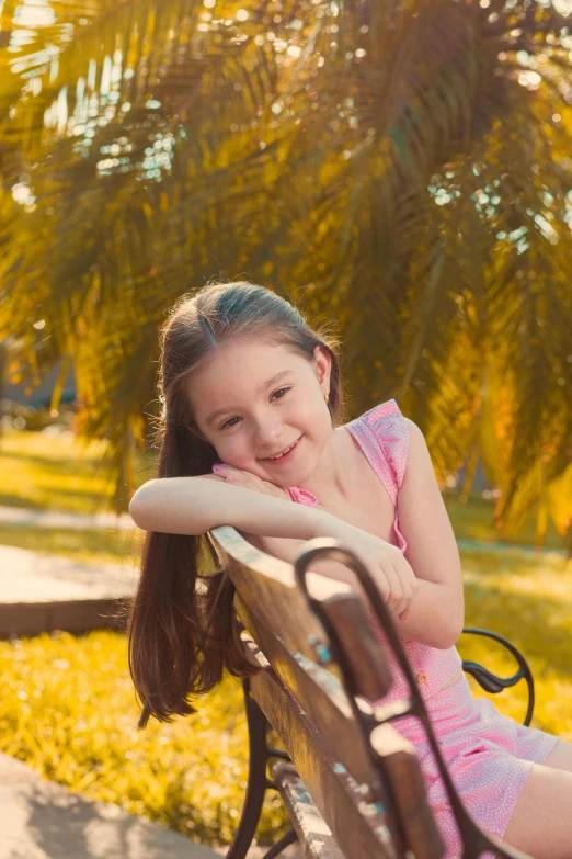
[[[398,657],[400,668],[403,671],[408,680],[408,683],[410,686],[411,689],[410,699],[405,699],[399,702],[392,702],[390,705],[387,707],[385,714],[384,714],[384,708],[381,708],[381,713],[382,713],[381,717],[379,716],[378,711],[376,711],[377,721],[375,724],[376,725],[379,724],[380,721],[381,723],[392,722],[405,715],[408,716],[415,715],[425,727],[425,732],[430,741],[430,744],[432,746],[433,754],[435,756],[437,765],[439,766],[441,775],[445,782],[445,787],[449,795],[450,804],[455,813],[457,825],[459,827],[459,832],[461,834],[461,838],[464,841],[464,846],[465,846],[465,850],[462,855],[464,859],[477,859],[481,855],[481,852],[485,850],[495,851],[497,859],[513,859],[513,857],[516,857],[517,854],[513,852],[505,845],[501,845],[501,843],[497,841],[496,839],[484,835],[476,826],[473,821],[466,812],[462,803],[460,802],[458,794],[450,780],[450,777],[448,775],[446,765],[442,758],[441,750],[438,749],[438,746],[435,742],[433,732],[428,726],[428,716],[426,714],[425,705],[421,697],[421,693],[419,691],[419,688],[416,686],[414,676],[411,671],[411,667],[407,659],[401,641],[394,630],[393,622],[390,618],[390,614],[384,601],[381,600],[379,591],[375,586],[375,584],[373,583],[369,572],[366,569],[366,567],[364,567],[361,564],[361,562],[353,554],[351,554],[346,550],[342,550],[338,546],[328,547],[322,545],[321,547],[318,549],[304,551],[298,556],[295,564],[295,575],[296,575],[297,584],[301,588],[302,592],[306,595],[306,598],[310,607],[313,609],[314,613],[318,615],[320,622],[323,624],[324,629],[330,635],[330,640],[334,647],[334,653],[332,655],[333,659],[334,662],[338,663],[338,665],[342,669],[343,685],[345,687],[350,701],[353,703],[354,715],[358,721],[358,723],[362,724],[365,735],[368,736],[368,734],[373,730],[373,725],[370,724],[370,717],[365,715],[357,707],[355,707],[355,702],[354,702],[355,691],[353,689],[353,683],[352,683],[352,672],[344,659],[343,647],[339,646],[335,631],[330,626],[328,619],[321,611],[320,603],[317,602],[316,600],[312,600],[306,587],[306,578],[305,578],[306,572],[309,565],[313,561],[317,561],[318,557],[320,558],[328,557],[331,560],[339,561],[345,564],[346,566],[348,566],[350,568],[352,568],[356,573],[362,586],[364,587],[364,590],[369,597],[371,607],[377,614],[377,618],[379,620],[379,623],[381,624],[381,628],[384,629],[384,632],[387,635],[389,644],[392,646],[393,652]],[[511,687],[515,686],[516,683],[518,683],[520,680],[524,679],[528,688],[528,704],[527,704],[526,716],[524,719],[523,724],[529,725],[533,719],[533,712],[535,707],[535,683],[534,683],[533,674],[530,671],[530,668],[525,657],[517,649],[517,647],[514,646],[514,644],[512,644],[507,638],[503,637],[502,635],[499,635],[497,633],[490,632],[488,630],[482,630],[476,626],[466,626],[462,630],[462,632],[466,634],[481,635],[487,638],[491,638],[497,642],[499,644],[501,644],[503,647],[505,647],[514,656],[514,658],[518,664],[518,669],[511,677],[499,677],[494,675],[492,671],[490,671],[489,669],[484,668],[483,666],[472,660],[464,660],[462,668],[467,674],[471,675],[477,680],[477,682],[481,686],[481,688],[483,688],[487,692],[492,692],[494,694],[497,694],[505,689],[510,689]],[[258,828],[266,791],[277,790],[276,783],[267,776],[268,761],[272,760],[273,758],[278,760],[290,761],[290,758],[286,751],[282,751],[281,749],[276,749],[273,746],[268,745],[267,735],[268,735],[268,730],[272,726],[270,725],[268,721],[266,720],[266,716],[260,709],[254,698],[251,696],[250,681],[248,678],[243,678],[242,688],[244,694],[244,707],[245,707],[247,724],[248,724],[248,733],[249,733],[249,778],[248,778],[247,794],[242,807],[240,823],[234,839],[227,854],[227,859],[244,859],[249,848],[251,847],[252,840],[254,838]],[[287,846],[294,844],[297,840],[298,840],[298,836],[295,829],[294,828],[288,829],[285,833],[285,835],[283,835],[282,838],[279,838],[279,840],[276,841],[276,844],[270,847],[270,849],[264,854],[264,857],[262,859],[274,859],[274,857],[278,856]],[[522,854],[518,854],[518,856],[522,856]]]

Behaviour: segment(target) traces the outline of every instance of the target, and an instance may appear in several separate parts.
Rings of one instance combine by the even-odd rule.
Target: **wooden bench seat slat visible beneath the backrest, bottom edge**
[[[332,830],[291,764],[284,761],[275,764],[272,768],[272,777],[306,856],[309,859],[345,859]]]

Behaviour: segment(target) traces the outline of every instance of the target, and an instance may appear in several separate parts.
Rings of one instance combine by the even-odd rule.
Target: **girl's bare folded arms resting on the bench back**
[[[401,634],[446,648],[464,623],[459,555],[425,440],[414,423],[408,423],[410,451],[399,494],[400,528],[409,543],[405,558],[397,546],[325,510],[232,486],[215,475],[149,481],[134,495],[129,512],[139,528],[171,534],[198,535],[229,524],[268,538],[263,540],[265,550],[260,542],[259,546],[284,560],[291,560],[306,540],[340,540],[369,564],[386,600],[393,599],[394,592],[398,606],[408,604],[409,619],[397,621]],[[343,564],[323,561],[313,567],[361,591],[355,575]]]

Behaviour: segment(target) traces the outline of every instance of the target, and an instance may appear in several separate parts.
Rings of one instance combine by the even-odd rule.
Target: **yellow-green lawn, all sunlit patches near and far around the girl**
[[[104,444],[81,455],[69,436],[7,432],[0,441],[0,505],[90,513],[108,509],[111,486],[98,467]],[[138,479],[151,471],[141,457]],[[459,539],[497,540],[491,502],[446,497]],[[533,522],[518,539],[534,543]],[[113,529],[45,529],[0,523],[0,543],[113,561],[137,552],[133,534]],[[552,532],[548,544],[561,545]],[[537,681],[534,724],[572,741],[572,566],[556,553],[461,551],[467,625],[511,638]],[[495,645],[462,636],[465,657],[510,675],[514,664]],[[472,681],[471,681],[472,682]],[[247,779],[247,733],[240,687],[228,678],[169,725],[135,730],[138,709],[127,669],[126,638],[93,632],[0,642],[0,750],[88,796],[116,802],[196,840],[228,843]],[[480,692],[482,693],[482,692]],[[497,700],[497,699],[493,699]],[[504,693],[503,712],[522,719],[524,690]],[[270,796],[262,837],[285,818]]]

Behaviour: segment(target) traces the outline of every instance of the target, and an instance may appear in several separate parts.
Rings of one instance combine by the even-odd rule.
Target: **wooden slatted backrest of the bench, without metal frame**
[[[251,692],[344,856],[397,859],[411,850],[438,859],[443,844],[414,749],[389,724],[375,726],[361,700],[384,697],[391,682],[361,600],[350,586],[307,573],[309,600],[291,565],[232,528],[211,535],[261,668]]]

